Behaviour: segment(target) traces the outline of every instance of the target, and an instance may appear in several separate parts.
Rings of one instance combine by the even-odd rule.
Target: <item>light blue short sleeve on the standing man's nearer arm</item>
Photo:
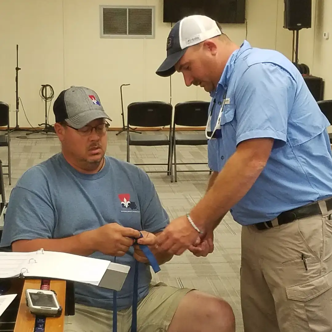
[[[235,88],[236,144],[251,138],[287,138],[290,103],[296,83],[283,68],[272,63],[251,65]]]

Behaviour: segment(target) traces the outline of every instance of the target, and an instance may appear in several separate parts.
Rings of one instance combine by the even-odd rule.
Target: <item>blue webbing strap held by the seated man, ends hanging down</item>
[[[143,237],[142,233],[140,233],[140,238]],[[134,244],[137,243],[137,239],[134,239]],[[138,244],[139,248],[143,251],[146,258],[149,260],[149,263],[152,267],[152,270],[157,273],[160,271],[159,264],[152,254],[150,248],[144,244]],[[114,262],[116,259],[114,259]],[[138,302],[138,266],[139,262],[135,261],[135,272],[134,272],[134,287],[133,287],[133,295],[132,295],[132,317],[131,317],[131,330],[130,332],[136,332],[137,330],[137,302]],[[113,332],[117,332],[118,329],[118,309],[117,309],[117,294],[118,292],[115,290],[113,292]]]

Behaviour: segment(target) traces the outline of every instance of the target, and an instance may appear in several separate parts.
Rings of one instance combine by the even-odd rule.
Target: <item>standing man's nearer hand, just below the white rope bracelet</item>
[[[157,236],[157,245],[163,251],[181,255],[189,246],[200,243],[199,233],[190,224],[187,216],[178,217]]]

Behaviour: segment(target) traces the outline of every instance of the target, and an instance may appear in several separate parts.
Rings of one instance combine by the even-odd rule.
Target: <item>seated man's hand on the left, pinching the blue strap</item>
[[[138,230],[123,227],[116,222],[101,226],[90,232],[96,251],[111,256],[123,256],[133,245],[134,240],[132,238],[140,236]]]

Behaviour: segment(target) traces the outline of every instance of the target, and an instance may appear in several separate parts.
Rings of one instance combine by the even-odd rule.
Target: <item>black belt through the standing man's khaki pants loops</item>
[[[332,210],[332,198],[325,200],[327,210]],[[318,202],[304,205],[302,207],[297,207],[289,211],[284,211],[280,213],[277,217],[278,224],[284,225],[288,224],[294,220],[312,217],[314,215],[321,214]],[[272,220],[259,222],[255,224],[256,228],[259,230],[270,229],[273,227]]]

